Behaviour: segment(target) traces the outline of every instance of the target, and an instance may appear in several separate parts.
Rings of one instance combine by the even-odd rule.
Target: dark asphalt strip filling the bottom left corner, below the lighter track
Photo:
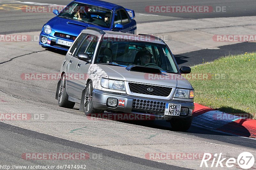
[[[147,159],[136,158],[133,156],[125,155],[118,152],[113,152],[101,148],[96,148],[58,137],[53,137],[38,133],[35,131],[22,129],[19,127],[11,126],[0,122],[0,134],[3,137],[1,141],[0,149],[0,163],[1,165],[21,165],[27,164],[41,165],[41,166],[58,166],[58,165],[68,165],[70,160],[26,160],[21,159],[21,153],[26,153],[28,148],[30,152],[36,153],[40,150],[44,150],[45,146],[47,150],[51,153],[87,153],[89,157],[94,157],[95,159],[88,160],[75,160],[72,161],[73,165],[86,165],[86,169],[186,169],[180,168],[178,166],[172,166],[160,162],[150,161]],[[21,141],[21,142],[17,142]],[[12,146],[9,148],[8,146]],[[17,148],[13,150],[13,148]],[[90,151],[90,152],[88,152]],[[96,156],[97,155],[97,156]],[[102,159],[96,159],[96,158]],[[104,159],[103,159],[104,158]],[[11,161],[10,161],[11,160]],[[28,162],[29,161],[29,162]]]

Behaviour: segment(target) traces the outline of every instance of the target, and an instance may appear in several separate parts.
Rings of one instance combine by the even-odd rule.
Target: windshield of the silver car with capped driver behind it
[[[101,43],[96,63],[111,63],[125,67],[140,65],[171,73],[178,72],[166,45],[140,41],[109,41],[106,37]]]

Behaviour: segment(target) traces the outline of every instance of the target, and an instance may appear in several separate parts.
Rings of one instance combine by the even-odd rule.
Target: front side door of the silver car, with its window
[[[76,56],[79,53],[86,53],[90,56],[90,60],[94,55],[97,42],[98,38],[96,36],[88,34],[84,39],[83,43],[81,44],[81,46],[79,47],[79,49],[77,50]],[[81,99],[82,92],[85,89],[87,73],[90,65],[91,63],[82,60],[79,60],[76,65],[76,89],[74,90],[74,97],[76,97],[77,99]]]

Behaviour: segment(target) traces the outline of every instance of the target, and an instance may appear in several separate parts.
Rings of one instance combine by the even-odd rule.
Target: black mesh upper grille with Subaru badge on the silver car
[[[138,83],[129,83],[129,87],[131,92],[133,93],[140,93],[140,94],[147,94],[147,95],[154,95],[154,96],[163,96],[167,97],[170,95],[172,88],[170,87],[161,87],[155,85],[143,85]],[[151,88],[153,91],[148,91]]]

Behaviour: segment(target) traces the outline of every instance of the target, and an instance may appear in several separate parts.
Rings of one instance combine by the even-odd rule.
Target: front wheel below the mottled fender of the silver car
[[[93,107],[92,91],[93,91],[92,80],[90,80],[87,83],[86,88],[85,88],[85,92],[84,92],[83,107],[84,107],[84,114],[86,116],[91,116],[91,114],[94,114],[94,113],[103,113],[104,112],[103,110],[95,109]]]

